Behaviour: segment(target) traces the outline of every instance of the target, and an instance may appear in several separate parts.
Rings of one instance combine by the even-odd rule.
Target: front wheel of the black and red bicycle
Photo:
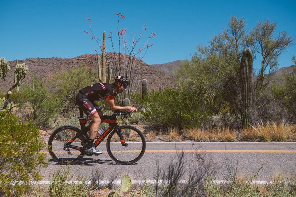
[[[120,126],[120,130],[127,146],[123,146],[114,129],[107,139],[109,156],[120,164],[133,164],[142,158],[145,149],[145,137],[137,128],[130,125]]]

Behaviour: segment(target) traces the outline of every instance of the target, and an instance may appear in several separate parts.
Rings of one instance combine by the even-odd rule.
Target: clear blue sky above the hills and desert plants
[[[246,28],[252,29],[258,20],[269,19],[278,24],[277,32],[287,31],[296,37],[295,1],[4,1],[0,0],[0,56],[6,60],[31,57],[73,58],[95,54],[99,49],[90,36],[92,30],[99,38],[110,31],[115,36],[116,13],[125,19],[120,28],[136,35],[146,24],[141,47],[150,32],[157,35],[149,41],[143,58],[147,64],[161,64],[190,59],[198,44],[209,40],[226,27],[230,16],[243,17]],[[107,51],[111,51],[107,40]],[[118,40],[113,40],[118,42]],[[140,45],[138,45],[140,47]],[[99,51],[99,50],[98,50]],[[290,66],[296,55],[296,45],[289,47],[279,58],[279,68]],[[258,68],[260,60],[254,62]]]

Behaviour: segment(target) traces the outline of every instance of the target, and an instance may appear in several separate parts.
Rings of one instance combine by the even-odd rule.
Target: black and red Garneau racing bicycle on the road
[[[113,161],[119,164],[133,164],[142,158],[146,141],[137,128],[130,125],[118,125],[116,116],[131,116],[130,111],[115,111],[111,116],[102,116],[101,122],[109,123],[107,128],[94,142],[97,147],[109,134],[106,142],[107,152]],[[51,157],[60,164],[75,164],[84,155],[88,143],[88,128],[85,126],[91,119],[84,118],[80,109],[79,123],[81,130],[74,126],[62,126],[51,134],[48,140],[48,151]]]

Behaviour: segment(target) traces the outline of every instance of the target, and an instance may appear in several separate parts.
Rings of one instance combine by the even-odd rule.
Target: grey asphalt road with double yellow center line
[[[147,142],[145,154],[134,165],[114,162],[106,151],[106,143],[101,143],[97,149],[104,154],[84,156],[80,163],[70,166],[71,172],[90,179],[98,169],[104,174],[103,180],[109,180],[111,176],[120,180],[122,173],[129,173],[132,180],[154,180],[158,167],[167,170],[183,151],[185,174],[198,167],[200,158],[216,169],[216,180],[223,180],[222,174],[227,174],[227,161],[234,168],[238,163],[238,177],[249,177],[262,164],[257,180],[271,180],[278,174],[296,174],[296,142]],[[49,153],[46,155],[49,165],[42,169],[42,175],[43,180],[50,180],[55,170],[65,166],[50,158]]]

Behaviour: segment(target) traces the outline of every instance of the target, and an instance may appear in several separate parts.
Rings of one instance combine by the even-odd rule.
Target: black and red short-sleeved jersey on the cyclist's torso
[[[117,93],[114,93],[113,89],[112,84],[98,83],[82,88],[79,92],[87,96],[90,101],[114,100]]]

